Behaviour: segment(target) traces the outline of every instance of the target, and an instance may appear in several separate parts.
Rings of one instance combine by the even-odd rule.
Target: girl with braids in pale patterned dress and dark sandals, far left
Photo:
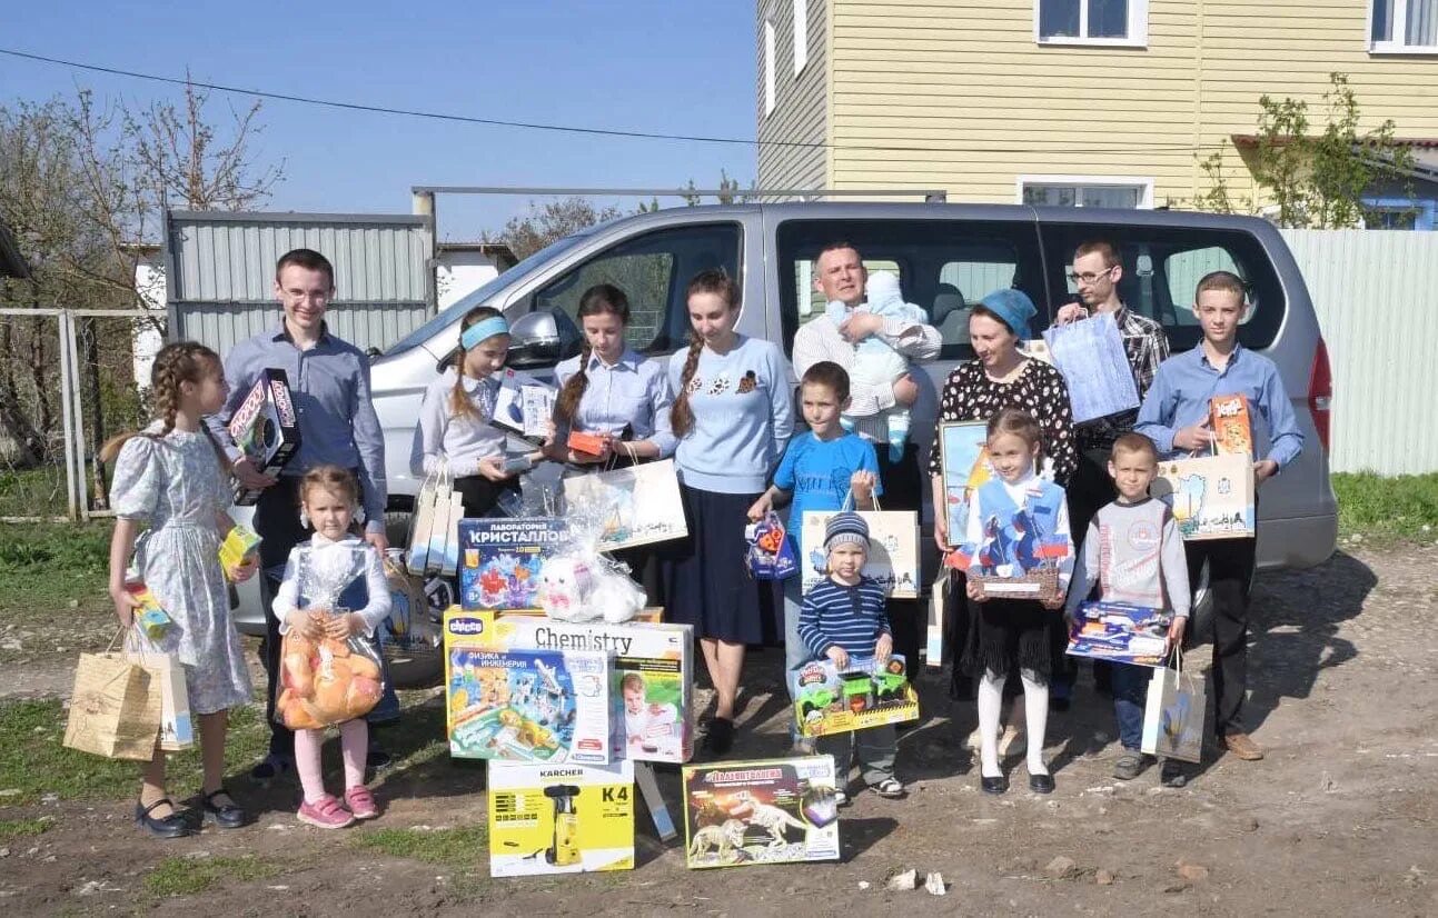
[[[157,641],[184,668],[190,710],[200,720],[204,763],[203,820],[234,829],[246,822],[221,783],[229,710],[250,700],[250,677],[220,566],[220,543],[234,526],[229,464],[201,418],[224,407],[227,386],[217,353],[196,342],[165,345],[155,355],[151,385],[160,419],[138,434],[124,434],[101,450],[115,460],[111,506],[109,595],[124,628],[134,623],[139,601],[125,589],[131,550],[139,579],[171,619]],[[139,534],[144,524],[150,530]],[[234,567],[236,580],[256,572],[255,560]],[[141,769],[135,822],[158,838],[196,829],[165,793],[165,757]]]

